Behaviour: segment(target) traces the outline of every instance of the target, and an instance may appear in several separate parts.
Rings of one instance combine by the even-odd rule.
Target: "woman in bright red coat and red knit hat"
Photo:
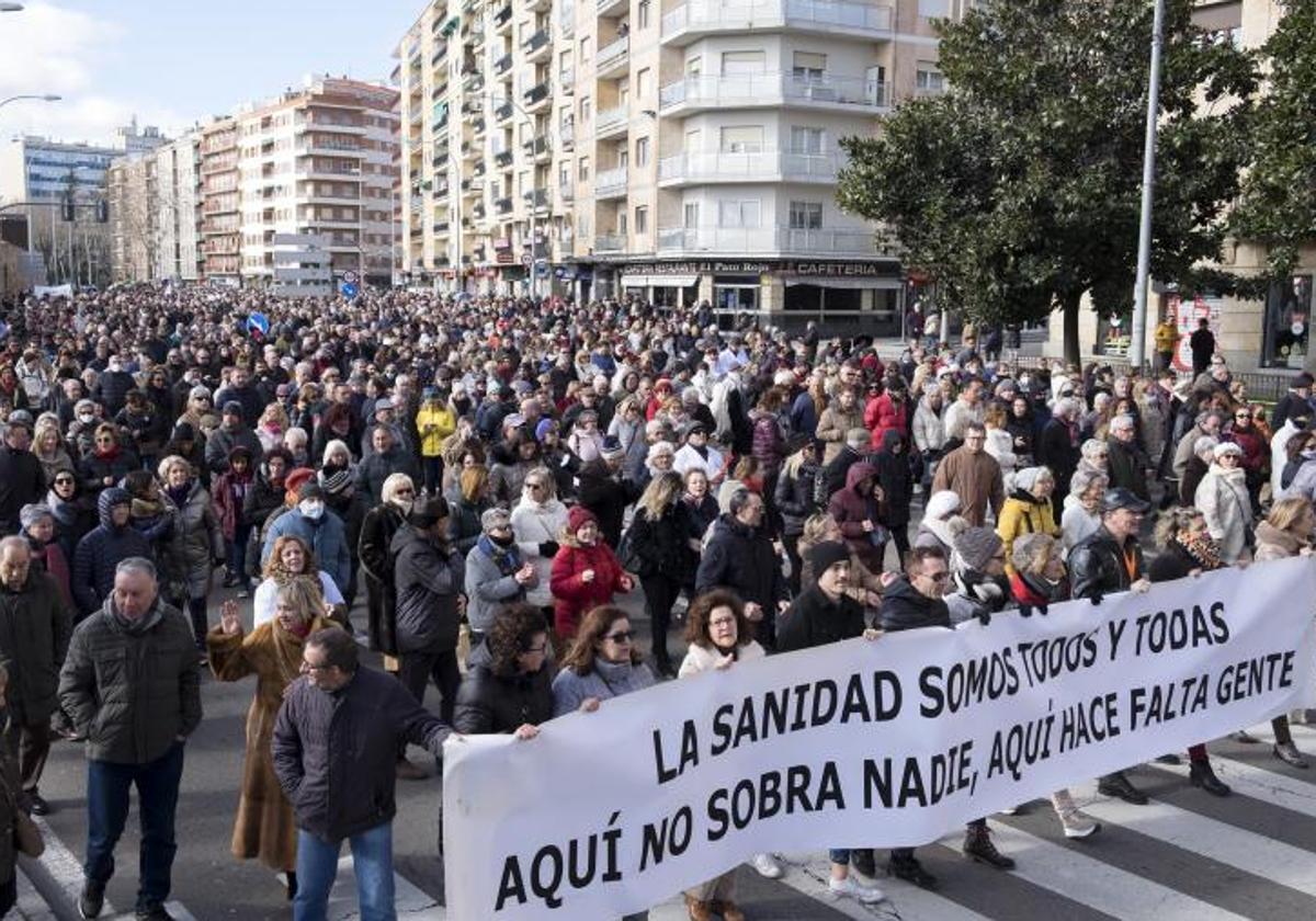
[[[574,637],[587,610],[612,604],[615,592],[629,592],[633,584],[612,547],[600,539],[599,520],[594,512],[572,505],[549,575],[553,626],[558,638]]]

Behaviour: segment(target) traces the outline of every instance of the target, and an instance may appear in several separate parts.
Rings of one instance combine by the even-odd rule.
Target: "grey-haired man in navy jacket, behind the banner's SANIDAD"
[[[745,616],[755,625],[755,639],[775,649],[776,614],[788,605],[782,560],[763,528],[763,497],[745,489],[732,495],[730,510],[713,522],[695,575],[695,591],[729,588],[745,600]]]

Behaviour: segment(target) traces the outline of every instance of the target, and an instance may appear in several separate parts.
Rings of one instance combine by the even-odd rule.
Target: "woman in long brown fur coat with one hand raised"
[[[316,583],[293,579],[279,587],[272,620],[243,634],[238,603],[230,599],[224,603],[220,624],[205,635],[216,679],[240,682],[254,675],[257,680],[247,709],[246,754],[232,853],[240,860],[257,858],[286,874],[288,899],[297,893],[297,829],[292,807],[274,774],[270,742],[283,695],[297,678],[307,637],[334,626],[325,617]]]

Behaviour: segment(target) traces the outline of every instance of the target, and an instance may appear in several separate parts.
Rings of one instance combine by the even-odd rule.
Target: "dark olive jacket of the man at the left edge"
[[[72,616],[55,580],[36,566],[14,592],[0,585],[0,666],[9,672],[9,712],[25,725],[45,722],[59,705],[59,667]]]

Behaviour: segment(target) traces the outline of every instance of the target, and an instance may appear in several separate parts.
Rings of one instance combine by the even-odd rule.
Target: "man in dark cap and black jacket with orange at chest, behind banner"
[[[1100,604],[1109,592],[1152,587],[1142,563],[1138,530],[1142,516],[1152,508],[1128,489],[1109,489],[1101,499],[1101,526],[1083,538],[1070,553],[1070,585],[1076,599]],[[1134,787],[1124,771],[1107,774],[1098,782],[1098,792],[1125,803],[1146,805],[1146,793]]]

